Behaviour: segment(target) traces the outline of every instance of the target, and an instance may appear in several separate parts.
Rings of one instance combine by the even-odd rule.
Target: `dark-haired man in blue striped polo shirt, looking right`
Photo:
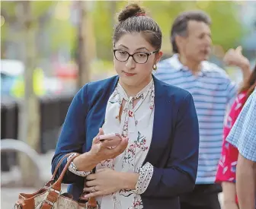
[[[160,62],[155,73],[156,78],[184,88],[193,95],[199,119],[197,185],[193,192],[181,196],[181,209],[220,208],[219,188],[214,182],[222,148],[223,120],[237,88],[222,68],[206,61],[211,42],[210,17],[207,14],[201,11],[180,14],[171,29],[171,44],[175,54]],[[229,55],[238,56],[239,53],[241,49],[229,51]],[[243,69],[246,78],[250,73],[248,62],[240,59],[238,66]]]

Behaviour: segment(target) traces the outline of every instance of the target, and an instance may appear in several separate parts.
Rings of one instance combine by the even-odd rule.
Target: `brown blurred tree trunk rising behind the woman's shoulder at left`
[[[90,81],[90,51],[87,50],[88,33],[90,30],[87,24],[86,2],[78,1],[78,46],[77,46],[77,63],[78,63],[78,88]],[[88,30],[87,30],[88,29]]]

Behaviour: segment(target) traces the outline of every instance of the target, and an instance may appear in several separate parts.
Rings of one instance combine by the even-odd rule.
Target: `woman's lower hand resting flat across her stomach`
[[[120,191],[123,188],[120,174],[113,169],[98,169],[97,173],[88,175],[85,191],[91,193],[85,195],[85,198],[110,195]]]

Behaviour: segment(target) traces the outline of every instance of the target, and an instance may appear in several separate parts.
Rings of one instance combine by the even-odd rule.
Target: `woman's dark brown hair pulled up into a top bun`
[[[162,31],[158,24],[146,11],[137,4],[127,5],[118,15],[118,23],[114,27],[113,43],[126,33],[142,33],[146,40],[155,48],[161,49]]]

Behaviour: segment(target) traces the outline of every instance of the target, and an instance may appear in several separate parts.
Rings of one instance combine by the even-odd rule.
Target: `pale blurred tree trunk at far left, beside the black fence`
[[[34,93],[34,69],[36,68],[36,46],[35,46],[35,26],[31,14],[31,4],[33,2],[18,2],[21,4],[20,21],[24,37],[24,100],[19,112],[19,139],[26,142],[34,150],[38,150],[40,141],[40,112],[39,101]],[[38,159],[39,160],[39,159]],[[37,181],[35,167],[32,161],[21,154],[19,157],[21,166],[22,184],[32,186]]]

